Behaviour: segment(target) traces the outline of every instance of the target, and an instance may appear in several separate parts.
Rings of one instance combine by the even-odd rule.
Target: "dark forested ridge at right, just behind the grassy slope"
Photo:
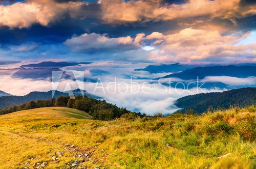
[[[256,103],[256,88],[234,89],[225,92],[202,93],[185,96],[176,100],[175,105],[185,109],[193,109],[199,114],[209,107],[229,108],[230,105],[249,106]]]

